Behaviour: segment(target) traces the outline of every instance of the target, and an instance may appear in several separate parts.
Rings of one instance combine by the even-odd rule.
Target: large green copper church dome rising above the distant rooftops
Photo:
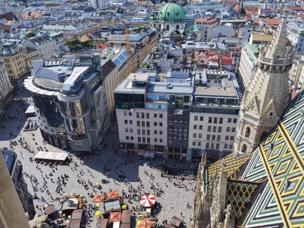
[[[157,15],[157,22],[182,23],[187,22],[185,9],[178,3],[171,0],[161,7]]]

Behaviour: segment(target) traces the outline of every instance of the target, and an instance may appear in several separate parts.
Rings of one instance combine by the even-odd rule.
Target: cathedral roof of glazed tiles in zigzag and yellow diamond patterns
[[[302,92],[292,100],[278,124],[252,153],[230,154],[224,158],[224,171],[228,173],[226,204],[233,206],[237,226],[304,227],[303,115]],[[244,160],[248,160],[246,164]],[[209,177],[219,167],[220,161],[212,164],[208,168]],[[247,196],[242,196],[244,185],[249,188],[248,184],[256,185],[250,194],[250,203],[245,200]],[[237,191],[231,189],[237,185]]]

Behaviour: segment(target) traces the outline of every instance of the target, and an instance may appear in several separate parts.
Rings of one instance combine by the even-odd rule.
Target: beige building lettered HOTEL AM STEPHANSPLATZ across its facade
[[[192,161],[207,154],[208,162],[213,163],[232,152],[240,111],[238,91],[234,74],[196,71],[189,117],[188,155]]]

